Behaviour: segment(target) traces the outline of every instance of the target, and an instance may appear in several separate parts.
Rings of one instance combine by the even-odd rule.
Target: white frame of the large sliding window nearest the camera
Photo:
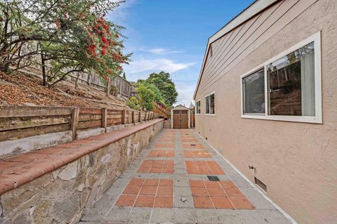
[[[267,65],[279,58],[288,55],[289,53],[298,50],[299,48],[310,44],[314,41],[315,46],[315,116],[283,116],[283,115],[269,115],[269,99],[268,99],[268,80],[267,80]],[[264,69],[265,72],[265,114],[244,114],[244,86],[243,79],[258,72],[259,70]],[[311,37],[300,41],[298,44],[292,46],[291,48],[279,53],[275,57],[267,60],[263,64],[255,67],[253,70],[246,72],[240,77],[241,82],[241,117],[249,119],[266,119],[266,120],[275,120],[275,121],[294,121],[294,122],[304,122],[304,123],[315,123],[322,124],[322,73],[321,73],[321,32],[313,34]]]

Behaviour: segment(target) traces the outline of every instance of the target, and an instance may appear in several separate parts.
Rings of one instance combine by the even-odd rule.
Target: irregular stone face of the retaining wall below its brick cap
[[[77,223],[162,127],[159,121],[5,192],[0,223]]]

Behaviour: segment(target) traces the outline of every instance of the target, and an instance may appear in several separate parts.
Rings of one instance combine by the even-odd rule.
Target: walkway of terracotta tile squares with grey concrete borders
[[[193,130],[164,129],[80,223],[291,222]]]

